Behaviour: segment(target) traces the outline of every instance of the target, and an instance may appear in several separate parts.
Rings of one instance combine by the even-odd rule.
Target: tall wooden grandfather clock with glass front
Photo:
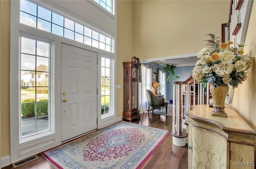
[[[138,83],[140,59],[132,57],[130,62],[123,62],[124,67],[124,111],[123,120],[132,121],[140,118],[138,109]]]

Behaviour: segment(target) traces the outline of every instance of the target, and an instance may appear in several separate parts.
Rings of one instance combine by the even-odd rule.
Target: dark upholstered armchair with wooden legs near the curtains
[[[167,114],[167,106],[168,102],[164,102],[164,98],[158,98],[154,95],[154,93],[151,92],[151,90],[146,89],[147,94],[147,100],[148,100],[148,112],[150,106],[152,107],[152,115],[154,114],[154,108],[160,108],[165,107],[166,108],[166,114]]]

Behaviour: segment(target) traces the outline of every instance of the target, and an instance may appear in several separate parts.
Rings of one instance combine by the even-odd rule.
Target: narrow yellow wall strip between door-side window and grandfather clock
[[[123,116],[123,62],[130,61],[133,50],[133,1],[117,1],[117,85],[116,89],[116,117]]]

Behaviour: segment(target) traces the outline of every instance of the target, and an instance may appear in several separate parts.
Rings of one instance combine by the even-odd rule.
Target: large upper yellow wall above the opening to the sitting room
[[[134,1],[134,53],[140,60],[197,53],[207,33],[220,36],[228,0]]]

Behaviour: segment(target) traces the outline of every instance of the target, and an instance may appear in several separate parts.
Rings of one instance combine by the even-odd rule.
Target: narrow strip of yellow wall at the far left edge
[[[0,115],[1,157],[10,155],[10,1],[1,1],[0,9]]]

